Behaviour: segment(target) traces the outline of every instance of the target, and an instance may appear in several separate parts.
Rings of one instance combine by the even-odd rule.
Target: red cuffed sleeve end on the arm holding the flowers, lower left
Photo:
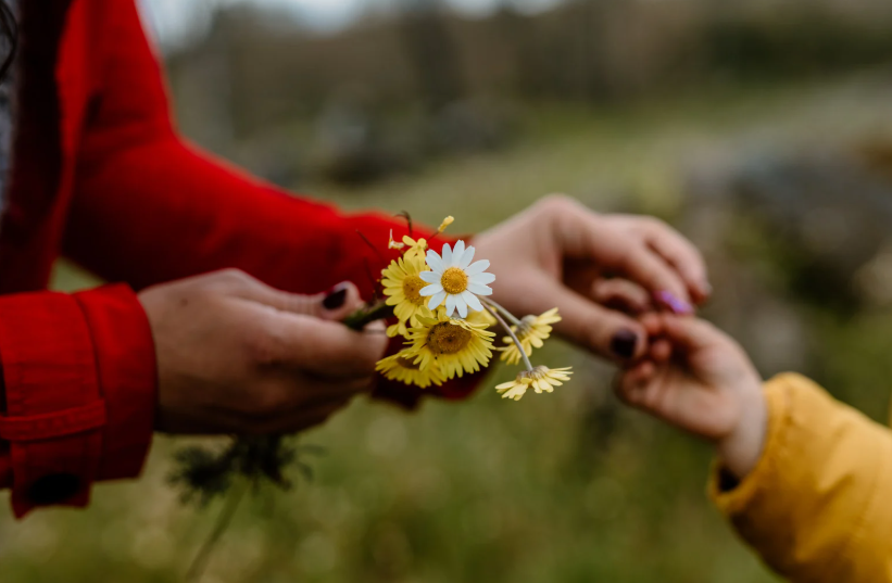
[[[83,506],[90,484],[137,476],[155,406],[154,347],[133,291],[0,299],[0,486],[21,517]]]

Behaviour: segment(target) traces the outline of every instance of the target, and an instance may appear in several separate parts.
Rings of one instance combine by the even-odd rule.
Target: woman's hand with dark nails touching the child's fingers
[[[678,313],[709,295],[700,252],[651,217],[599,215],[552,195],[474,239],[491,262],[493,299],[517,316],[558,307],[560,333],[603,356],[629,362],[646,335],[632,317],[661,304]]]

